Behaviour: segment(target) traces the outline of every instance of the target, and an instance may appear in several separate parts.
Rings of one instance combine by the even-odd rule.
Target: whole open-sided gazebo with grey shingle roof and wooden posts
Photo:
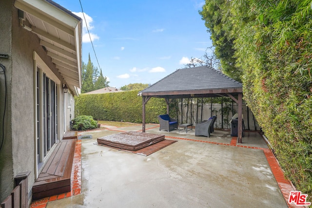
[[[242,143],[242,83],[209,66],[178,69],[139,92],[142,96],[142,132],[145,132],[145,104],[151,97],[175,98],[231,97],[238,104],[238,143]]]

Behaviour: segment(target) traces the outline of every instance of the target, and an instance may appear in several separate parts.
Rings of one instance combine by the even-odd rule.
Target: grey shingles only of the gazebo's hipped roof
[[[242,88],[242,83],[208,66],[178,69],[141,93]]]

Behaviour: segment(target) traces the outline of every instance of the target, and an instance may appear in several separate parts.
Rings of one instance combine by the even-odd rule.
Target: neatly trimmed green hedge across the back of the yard
[[[142,97],[138,90],[75,97],[75,116],[91,115],[95,120],[142,123]],[[157,115],[167,111],[164,99],[151,98],[145,109],[146,123],[158,123]]]

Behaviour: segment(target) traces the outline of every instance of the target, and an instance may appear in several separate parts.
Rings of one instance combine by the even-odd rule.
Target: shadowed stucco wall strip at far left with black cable
[[[4,1],[1,2],[0,6],[0,54],[12,55],[12,5],[13,1]],[[5,72],[2,72],[2,69],[0,72],[0,139],[3,139],[3,141],[0,141],[0,201],[3,201],[13,188],[12,139],[7,139],[12,135],[11,96],[7,96],[5,117],[4,119],[2,117],[5,102],[5,76],[8,88],[7,94],[11,94],[12,70],[10,69],[12,69],[12,59],[0,58],[0,63],[5,66]],[[2,132],[4,133],[3,138]]]

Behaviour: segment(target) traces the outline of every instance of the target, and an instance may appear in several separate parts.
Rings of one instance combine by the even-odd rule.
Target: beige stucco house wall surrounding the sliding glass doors
[[[64,79],[52,63],[51,57],[47,56],[45,48],[39,44],[38,35],[20,27],[18,9],[14,6],[14,2],[15,0],[2,0],[0,6],[0,54],[8,55],[8,58],[0,58],[0,64],[5,67],[5,77],[0,69],[0,146],[2,129],[4,131],[3,145],[0,149],[0,202],[14,189],[14,177],[24,171],[31,171],[28,177],[28,197],[31,200],[31,189],[40,171],[36,163],[36,66],[38,64],[34,58],[35,53],[46,64],[53,77],[59,79],[56,88],[58,91],[57,142],[62,139],[64,132],[69,131],[69,123],[74,118],[75,112],[74,95],[70,89],[68,93],[63,93]],[[68,99],[71,101],[69,102]],[[44,161],[48,157],[49,153]]]

